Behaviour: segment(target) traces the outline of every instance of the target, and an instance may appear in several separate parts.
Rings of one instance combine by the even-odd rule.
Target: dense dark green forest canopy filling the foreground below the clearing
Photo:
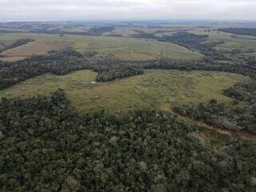
[[[0,102],[2,191],[249,191],[256,145],[213,146],[173,114],[78,114],[62,90]]]

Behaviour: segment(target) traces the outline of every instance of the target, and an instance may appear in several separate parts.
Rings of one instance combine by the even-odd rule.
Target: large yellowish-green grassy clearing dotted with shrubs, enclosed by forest
[[[170,110],[172,106],[208,102],[211,98],[229,102],[230,98],[222,95],[222,90],[246,79],[238,74],[178,70],[146,70],[139,76],[91,84],[95,77],[90,70],[64,76],[45,74],[0,91],[0,98],[27,98],[61,88],[78,110],[98,107],[110,111],[134,107]]]

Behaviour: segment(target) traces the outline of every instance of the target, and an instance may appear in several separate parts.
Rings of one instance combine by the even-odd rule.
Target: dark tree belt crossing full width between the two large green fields
[[[46,55],[32,56],[17,62],[0,61],[0,89],[12,86],[41,74],[69,74],[75,70],[94,70],[97,81],[107,82],[143,74],[147,69],[214,70],[243,74],[255,78],[256,57],[244,57],[230,62],[202,58],[197,61],[178,61],[158,58],[150,61],[123,61],[116,58],[97,58],[97,52],[78,53],[74,50],[50,51]]]

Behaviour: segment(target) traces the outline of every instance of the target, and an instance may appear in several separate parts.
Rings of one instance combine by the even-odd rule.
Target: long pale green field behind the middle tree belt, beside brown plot
[[[174,59],[197,59],[202,57],[198,52],[193,52],[185,47],[172,43],[157,42],[148,39],[136,38],[117,38],[104,36],[78,36],[78,35],[59,35],[51,34],[2,34],[0,42],[14,42],[19,38],[33,38],[35,43],[63,43],[65,46],[73,47],[78,51],[93,50],[101,54],[114,54],[118,58],[145,60],[162,56]],[[54,48],[54,47],[53,47]],[[16,50],[22,49],[20,47]],[[26,50],[22,50],[26,54]],[[13,55],[14,57],[16,55]]]

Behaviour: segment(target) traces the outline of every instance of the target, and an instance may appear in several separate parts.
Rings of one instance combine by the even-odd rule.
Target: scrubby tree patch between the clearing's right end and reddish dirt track
[[[233,102],[225,104],[216,100],[200,103],[195,106],[176,106],[174,112],[195,120],[234,131],[246,130],[256,134],[256,84],[254,80],[239,82],[223,91],[233,98]]]

